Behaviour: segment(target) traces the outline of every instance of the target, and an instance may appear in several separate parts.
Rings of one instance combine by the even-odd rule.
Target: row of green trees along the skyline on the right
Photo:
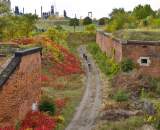
[[[77,18],[70,20],[70,26],[79,26],[80,21]],[[114,32],[120,29],[135,28],[160,28],[160,9],[153,10],[150,5],[138,5],[132,11],[125,11],[124,8],[115,8],[108,17],[102,17],[98,20],[92,20],[85,17],[82,25],[92,24],[106,25],[105,30]]]

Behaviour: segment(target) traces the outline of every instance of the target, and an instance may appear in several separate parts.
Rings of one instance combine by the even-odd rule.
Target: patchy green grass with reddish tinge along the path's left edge
[[[43,71],[46,71],[43,68]],[[50,73],[50,72],[47,72]],[[58,124],[56,130],[64,130],[71,121],[75,108],[78,106],[81,96],[84,92],[84,75],[70,75],[67,77],[53,78],[51,86],[44,87],[43,92],[55,99],[65,99],[66,105],[63,107],[61,115],[64,117],[64,122]]]

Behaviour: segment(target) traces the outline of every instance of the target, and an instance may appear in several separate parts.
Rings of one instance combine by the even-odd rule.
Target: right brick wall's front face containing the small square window
[[[142,74],[153,77],[160,77],[160,46],[156,45],[123,45],[123,57],[130,58],[138,65]],[[139,66],[137,60],[140,57],[149,57],[151,64],[149,66]]]

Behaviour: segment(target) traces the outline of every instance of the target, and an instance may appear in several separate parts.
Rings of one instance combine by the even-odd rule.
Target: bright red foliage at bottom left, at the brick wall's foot
[[[40,112],[29,112],[22,121],[21,129],[33,128],[34,130],[54,130],[56,122],[48,115]]]

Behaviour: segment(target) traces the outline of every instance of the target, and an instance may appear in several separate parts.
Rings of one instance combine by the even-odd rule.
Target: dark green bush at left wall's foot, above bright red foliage
[[[55,104],[48,97],[42,97],[38,107],[41,112],[47,112],[51,116],[55,114]]]

